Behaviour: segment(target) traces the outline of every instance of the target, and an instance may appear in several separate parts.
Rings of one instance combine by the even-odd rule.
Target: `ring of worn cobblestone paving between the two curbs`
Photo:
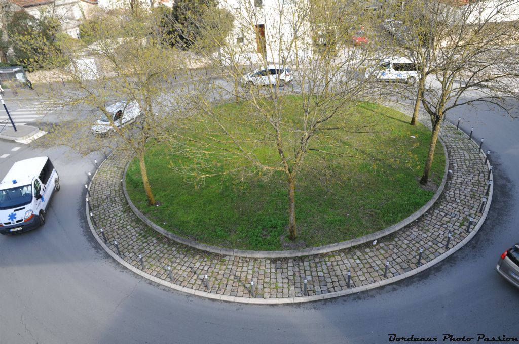
[[[393,107],[410,113],[403,105]],[[424,124],[430,120],[420,115]],[[398,276],[417,267],[419,249],[421,263],[446,252],[446,240],[452,232],[449,247],[467,236],[470,218],[473,224],[482,216],[481,204],[487,189],[488,168],[477,145],[450,124],[444,123],[442,138],[449,155],[449,169],[443,195],[424,216],[387,237],[376,245],[367,243],[329,254],[294,259],[252,259],[207,253],[162,237],[142,223],[131,211],[122,192],[121,178],[128,156],[114,152],[102,165],[90,189],[94,226],[104,228],[113,245],[117,240],[120,256],[136,268],[152,276],[194,290],[251,297],[251,280],[256,298],[304,296],[304,280],[308,279],[308,295],[346,290]],[[438,145],[437,149],[441,149]],[[483,148],[484,149],[484,148]],[[384,277],[389,262],[387,277]],[[171,270],[168,270],[168,266]],[[209,288],[204,276],[208,276]]]

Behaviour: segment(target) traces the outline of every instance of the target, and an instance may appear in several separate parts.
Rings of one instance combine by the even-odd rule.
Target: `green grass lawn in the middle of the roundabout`
[[[286,97],[286,122],[298,120],[299,99]],[[247,119],[250,106],[226,104],[216,111],[233,123],[230,127],[237,136],[256,138],[257,129],[250,121],[237,120]],[[363,123],[376,125],[366,133],[334,138],[339,145],[331,151],[356,157],[330,155],[327,174],[318,154],[307,153],[307,167],[301,170],[296,189],[296,245],[287,238],[288,188],[281,173],[268,179],[258,174],[211,177],[197,188],[171,168],[189,164],[190,160],[159,143],[146,153],[146,166],[155,198],[162,205],[146,205],[137,161],[128,169],[128,192],[135,206],[161,227],[208,245],[282,250],[321,246],[376,232],[406,218],[434,194],[418,182],[430,131],[422,125],[410,126],[404,114],[375,104],[359,104],[348,113],[356,115],[347,116],[349,128]],[[342,119],[330,124],[346,125]],[[290,141],[294,135],[287,132],[284,138]],[[261,146],[253,151],[263,162],[279,160],[275,149]],[[217,170],[241,163],[236,156],[213,159]],[[440,184],[444,166],[443,148],[438,145],[430,178],[433,184]]]

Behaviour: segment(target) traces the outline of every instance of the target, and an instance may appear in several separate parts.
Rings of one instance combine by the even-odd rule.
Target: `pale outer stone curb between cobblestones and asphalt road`
[[[447,125],[453,125],[453,124],[447,122]],[[468,137],[468,135],[465,132],[463,132],[463,131],[461,131],[461,132],[464,133]],[[474,140],[472,140],[472,142],[474,142],[474,144],[477,146],[477,143]],[[444,149],[445,149],[445,146],[444,146]],[[486,157],[486,154],[484,152],[481,152],[481,153],[483,154],[483,156]],[[104,161],[100,164],[100,166],[95,171],[94,175],[92,176],[92,180],[95,177],[95,175],[97,175],[99,169],[101,168],[101,166],[103,164],[104,164]],[[486,165],[489,168],[490,167],[490,162],[488,161]],[[448,164],[446,164],[446,166],[448,167]],[[445,176],[444,176],[444,179],[445,179]],[[494,179],[493,171],[490,172],[490,179],[492,179],[492,180]],[[124,183],[122,183],[122,184],[124,185]],[[88,191],[90,190],[91,185],[92,185],[92,181],[90,181],[90,183],[88,184]],[[85,210],[86,210],[86,214],[87,214],[88,226],[89,226],[90,231],[92,232],[92,235],[94,236],[95,240],[98,241],[99,245],[108,254],[110,254],[113,257],[113,259],[115,259],[117,262],[119,262],[123,266],[127,267],[128,269],[133,271],[135,274],[138,274],[138,275],[140,275],[140,276],[142,276],[142,277],[144,277],[144,278],[146,278],[148,280],[154,281],[154,282],[156,282],[156,283],[158,283],[160,285],[163,285],[163,286],[167,286],[168,288],[171,288],[171,289],[176,290],[176,291],[181,291],[181,292],[184,292],[184,293],[187,293],[187,294],[196,295],[196,296],[202,296],[202,297],[206,297],[206,298],[210,298],[210,299],[215,299],[215,300],[223,300],[223,301],[239,302],[239,303],[248,303],[248,304],[290,304],[290,303],[303,303],[303,302],[310,302],[310,301],[316,301],[316,300],[323,300],[323,299],[328,299],[328,298],[333,298],[333,297],[339,297],[339,296],[344,296],[344,295],[349,295],[349,294],[360,293],[360,292],[367,291],[367,290],[370,290],[370,289],[378,288],[379,286],[384,286],[384,285],[387,285],[387,284],[390,284],[390,283],[393,283],[393,282],[400,281],[400,280],[402,280],[404,278],[407,278],[407,277],[414,276],[417,273],[419,273],[420,271],[423,271],[423,270],[425,270],[425,269],[427,269],[429,267],[434,266],[435,264],[438,264],[439,262],[441,262],[444,259],[446,259],[448,256],[452,255],[454,252],[456,252],[459,249],[461,249],[463,246],[467,245],[467,243],[480,230],[481,226],[483,225],[483,223],[484,223],[484,221],[485,221],[485,219],[486,219],[486,217],[488,215],[488,211],[490,209],[490,203],[491,203],[493,194],[494,194],[494,183],[490,184],[489,194],[488,194],[488,197],[487,197],[487,203],[486,203],[485,209],[484,209],[484,211],[482,213],[482,216],[481,216],[480,220],[477,222],[477,224],[475,224],[475,226],[472,228],[471,232],[469,233],[469,235],[465,239],[461,240],[456,246],[454,246],[453,248],[449,249],[445,253],[441,254],[440,256],[434,258],[433,260],[431,260],[431,261],[429,261],[429,262],[427,262],[427,263],[425,263],[423,265],[420,265],[417,268],[409,270],[406,273],[403,273],[401,275],[393,276],[391,278],[387,278],[385,280],[381,280],[379,282],[375,282],[375,283],[371,283],[371,284],[367,284],[367,285],[362,285],[362,286],[358,286],[358,287],[354,287],[354,288],[351,288],[351,289],[342,290],[342,291],[338,291],[338,292],[331,292],[331,293],[320,294],[320,295],[312,295],[312,296],[302,296],[302,297],[266,298],[266,299],[265,298],[249,298],[249,297],[227,296],[227,295],[221,295],[221,294],[214,294],[214,293],[198,291],[198,290],[186,288],[186,287],[183,287],[183,286],[171,283],[171,282],[167,282],[166,280],[162,280],[162,279],[159,279],[159,278],[157,278],[155,276],[147,274],[144,271],[142,271],[142,270],[134,267],[130,263],[126,262],[121,257],[119,257],[114,251],[112,251],[112,249],[110,249],[110,247],[108,247],[104,243],[104,241],[101,239],[101,237],[95,231],[94,226],[92,225],[92,222],[91,222],[91,219],[90,219],[90,216],[89,216],[89,210],[90,209],[89,209],[88,202],[85,202]]]

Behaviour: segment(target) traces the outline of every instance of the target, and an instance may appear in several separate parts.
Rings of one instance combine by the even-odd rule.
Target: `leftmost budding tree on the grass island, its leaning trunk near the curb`
[[[179,68],[178,52],[165,44],[168,37],[157,30],[159,16],[153,9],[129,7],[98,16],[88,42],[62,37],[59,50],[48,51],[43,60],[47,76],[66,83],[49,83],[39,88],[40,95],[49,107],[75,111],[66,117],[68,124],[55,126],[46,139],[83,153],[116,141],[118,148],[138,157],[148,203],[154,205],[144,153],[154,143],[151,138],[174,119],[167,93]],[[36,43],[32,39],[20,42],[27,49]],[[140,116],[117,117],[110,107],[116,102],[121,102],[124,116],[129,107],[140,109]],[[93,127],[101,115],[101,122]],[[91,128],[99,134],[113,133],[113,140],[94,136]]]

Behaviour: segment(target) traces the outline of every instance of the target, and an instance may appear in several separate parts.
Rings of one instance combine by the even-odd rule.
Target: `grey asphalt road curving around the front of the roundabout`
[[[519,337],[519,290],[494,270],[499,255],[519,241],[519,122],[498,111],[458,113],[448,118],[462,117],[465,129],[474,126],[494,165],[494,199],[480,233],[413,278],[302,305],[215,302],[142,280],[116,264],[87,229],[83,184],[94,156],[0,142],[0,155],[10,154],[0,160],[1,176],[14,161],[45,154],[61,181],[45,226],[0,237],[0,343],[357,344],[388,342],[388,334],[440,342],[444,334]]]

